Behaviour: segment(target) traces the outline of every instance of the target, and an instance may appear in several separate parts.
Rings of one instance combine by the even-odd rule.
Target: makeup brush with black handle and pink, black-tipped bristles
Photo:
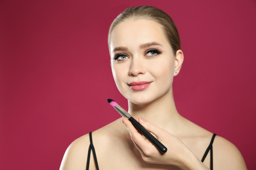
[[[125,111],[125,109],[123,109],[122,107],[120,107],[116,101],[112,100],[112,99],[108,99],[108,103],[110,103],[110,105],[112,105],[112,107],[114,107],[114,109],[117,110],[117,112],[119,112],[119,114],[121,114],[121,116],[123,116],[124,118],[128,118],[128,120],[133,124],[133,126],[144,136],[146,137],[146,139],[148,139],[148,141],[150,141],[152,144],[154,144],[154,146],[156,146],[156,148],[158,148],[158,150],[164,154],[165,152],[167,152],[167,148],[160,143],[160,141],[158,141],[158,139],[156,139],[156,137],[154,137],[151,133],[149,133],[145,127],[143,127],[141,124],[139,124],[139,122],[137,122],[137,120],[135,120],[135,118],[133,118],[131,116],[131,114],[129,114],[127,111]]]

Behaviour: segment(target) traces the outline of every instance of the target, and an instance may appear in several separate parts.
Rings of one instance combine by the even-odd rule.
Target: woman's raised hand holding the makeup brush
[[[190,169],[190,164],[194,163],[195,165],[194,161],[198,162],[198,165],[202,165],[201,161],[194,156],[194,154],[179,138],[171,135],[171,133],[144,120],[143,118],[139,118],[137,121],[152,133],[158,141],[167,147],[167,152],[165,154],[161,154],[161,152],[152,143],[150,143],[148,139],[143,137],[137,129],[135,129],[133,124],[131,124],[127,118],[122,118],[123,124],[127,126],[131,135],[131,140],[139,150],[142,160],[146,161],[146,163],[175,165],[181,169]],[[188,162],[187,160],[191,161]],[[203,168],[205,167],[203,166]]]

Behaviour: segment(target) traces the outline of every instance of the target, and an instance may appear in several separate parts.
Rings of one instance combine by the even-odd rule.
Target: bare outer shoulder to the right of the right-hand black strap
[[[247,169],[238,148],[218,135],[213,143],[213,162],[214,169]]]

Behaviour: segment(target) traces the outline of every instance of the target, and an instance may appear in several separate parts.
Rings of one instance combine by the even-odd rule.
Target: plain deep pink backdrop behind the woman
[[[256,169],[255,0],[1,0],[0,169],[58,169],[74,139],[120,117],[106,101],[127,108],[108,27],[137,5],[165,10],[179,29],[179,112],[236,144]]]

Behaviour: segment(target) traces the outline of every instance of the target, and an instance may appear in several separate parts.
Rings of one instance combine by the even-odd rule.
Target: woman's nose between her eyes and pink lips
[[[144,75],[144,62],[141,58],[131,59],[129,76]]]

